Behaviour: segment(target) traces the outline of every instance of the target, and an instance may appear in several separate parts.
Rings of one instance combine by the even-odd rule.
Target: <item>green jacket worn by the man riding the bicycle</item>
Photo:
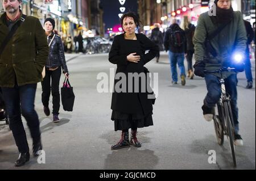
[[[207,34],[217,30],[220,24],[217,23],[216,16],[210,18],[208,12],[204,12],[199,16],[193,43],[195,45],[195,60],[207,60],[206,70],[217,70],[226,64],[230,64],[234,52],[245,54],[246,50],[246,30],[243,24],[242,14],[234,11],[234,18],[218,35],[216,35],[210,43],[216,50],[218,56],[213,57],[212,54],[205,51],[205,38]],[[204,58],[208,59],[204,59]],[[227,77],[230,73],[225,73]]]

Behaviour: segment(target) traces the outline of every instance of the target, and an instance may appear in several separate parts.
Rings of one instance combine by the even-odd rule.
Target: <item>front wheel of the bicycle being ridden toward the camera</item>
[[[235,148],[234,148],[234,128],[232,125],[232,120],[230,119],[230,115],[232,115],[232,112],[229,112],[231,110],[229,108],[228,102],[224,102],[224,110],[225,110],[225,120],[226,120],[226,129],[227,129],[227,137],[229,140],[229,145],[230,149],[232,152],[232,157],[233,157],[233,163],[234,166],[237,166],[237,161],[236,161],[236,153],[235,153]]]

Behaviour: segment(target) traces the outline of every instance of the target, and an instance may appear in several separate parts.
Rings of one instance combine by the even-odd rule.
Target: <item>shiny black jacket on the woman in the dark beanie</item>
[[[47,37],[48,44],[51,42],[54,33]],[[68,72],[68,68],[65,61],[64,47],[59,35],[55,35],[52,43],[49,47],[49,55],[46,61],[46,68],[56,68],[61,66],[63,73]]]

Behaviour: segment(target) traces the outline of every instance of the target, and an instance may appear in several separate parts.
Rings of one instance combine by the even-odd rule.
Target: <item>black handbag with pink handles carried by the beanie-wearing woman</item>
[[[67,78],[65,78],[63,87],[61,87],[61,102],[64,111],[73,111],[75,94]]]

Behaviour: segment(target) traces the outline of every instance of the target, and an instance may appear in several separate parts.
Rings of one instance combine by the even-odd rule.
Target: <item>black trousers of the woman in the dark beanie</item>
[[[60,76],[61,76],[61,67],[56,70],[46,70],[46,77],[44,77],[42,83],[42,103],[43,106],[49,106],[49,96],[52,91],[52,113],[59,114],[60,110]]]

